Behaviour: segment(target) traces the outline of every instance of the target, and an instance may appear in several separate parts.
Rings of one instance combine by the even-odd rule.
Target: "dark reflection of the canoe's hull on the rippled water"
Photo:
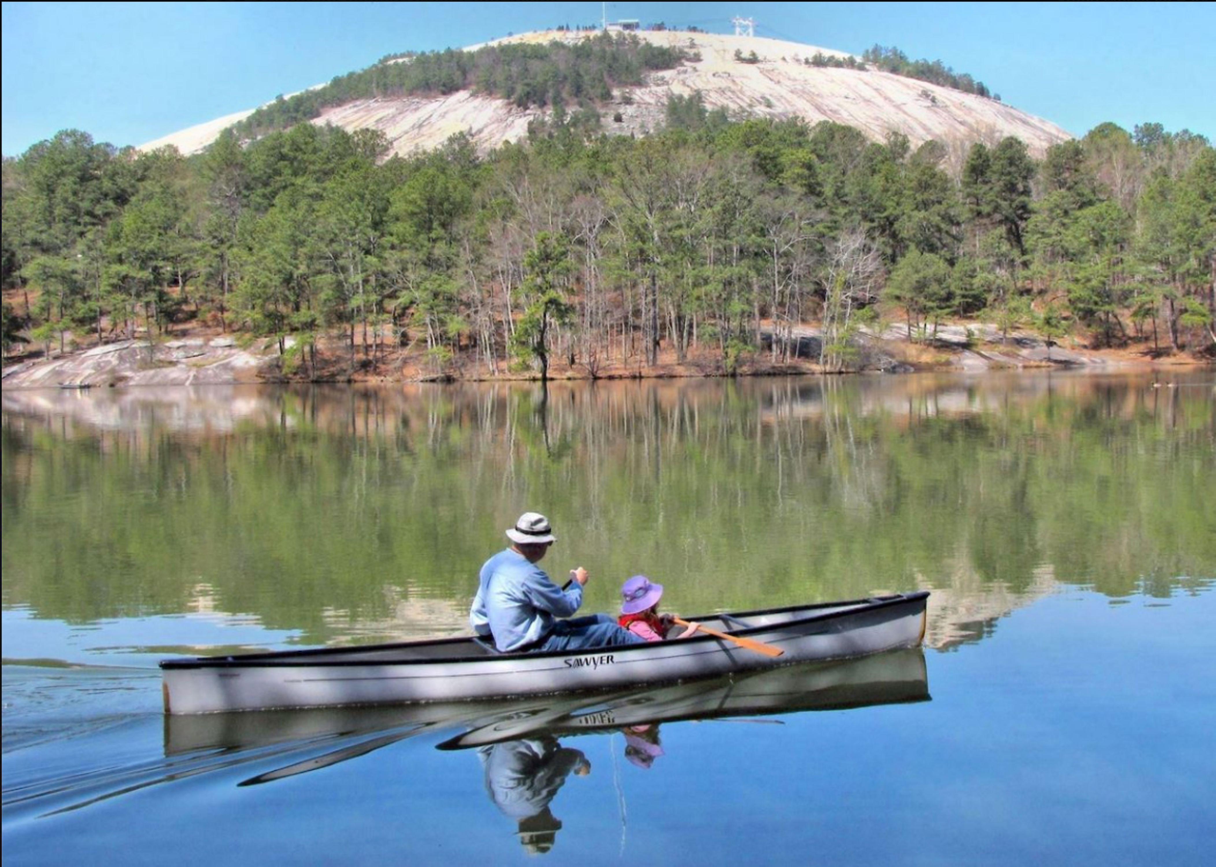
[[[165,716],[165,755],[197,750],[309,750],[303,759],[247,779],[266,783],[355,759],[424,731],[463,730],[439,749],[466,749],[548,734],[592,734],[681,720],[747,719],[929,699],[919,648],[861,659],[803,663],[649,689],[376,708],[316,708],[264,714]],[[277,748],[277,747],[276,747]],[[317,749],[321,751],[317,753]],[[261,753],[260,755],[265,755]]]

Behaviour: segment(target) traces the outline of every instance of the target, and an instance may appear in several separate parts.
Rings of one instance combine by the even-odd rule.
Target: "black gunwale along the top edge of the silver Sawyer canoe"
[[[869,597],[863,599],[850,599],[845,602],[823,602],[816,604],[803,604],[803,606],[784,606],[778,608],[765,608],[749,612],[728,612],[732,618],[745,619],[749,617],[762,617],[772,614],[787,614],[789,612],[815,612],[816,609],[832,608],[837,610],[812,613],[809,617],[796,618],[794,620],[787,620],[778,624],[767,624],[760,626],[748,626],[741,629],[726,629],[724,630],[728,635],[751,637],[755,635],[761,635],[765,632],[773,631],[787,631],[796,630],[807,623],[815,621],[831,621],[837,618],[856,617],[863,612],[876,612],[883,608],[891,608],[896,606],[906,606],[912,602],[923,601],[929,596],[928,591],[916,591],[910,593],[895,593],[890,596]],[[687,620],[711,620],[715,618],[721,618],[724,613],[715,614],[702,614],[685,618]],[[726,625],[724,620],[724,626]],[[716,643],[728,643],[724,642],[721,638],[716,638],[711,635],[699,635],[692,638],[681,640],[681,644],[688,647],[689,642],[697,643],[704,642],[716,642]],[[461,646],[467,647],[474,643],[474,638],[471,636],[457,636],[454,638],[432,638],[423,641],[406,641],[406,642],[392,642],[384,644],[365,644],[349,648],[330,648],[330,647],[317,647],[306,648],[299,651],[268,651],[248,654],[232,654],[224,657],[187,657],[178,659],[162,659],[159,663],[161,669],[165,671],[180,671],[188,669],[244,669],[244,668],[303,668],[303,666],[323,666],[323,668],[344,668],[344,666],[367,666],[367,665],[393,665],[393,666],[411,666],[411,665],[435,665],[435,664],[462,664],[462,663],[485,663],[491,660],[518,660],[518,659],[544,659],[548,657],[582,657],[582,655],[598,655],[603,654],[606,651],[612,653],[625,653],[636,654],[653,652],[657,648],[670,648],[670,642],[648,642],[644,644],[620,644],[610,648],[604,647],[592,647],[581,651],[530,651],[523,653],[514,652],[496,652],[496,653],[480,653],[478,655],[460,654],[450,657],[416,657],[411,659],[385,659],[385,660],[368,660],[364,659],[342,659],[342,658],[326,658],[319,660],[317,657],[340,657],[343,654],[356,655],[356,654],[368,654],[368,653],[382,653],[394,649],[409,651],[412,648],[421,647],[443,647]],[[779,665],[779,663],[777,663]]]

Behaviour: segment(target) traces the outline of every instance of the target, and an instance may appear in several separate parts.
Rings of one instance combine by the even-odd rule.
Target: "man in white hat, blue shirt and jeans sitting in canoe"
[[[569,586],[562,589],[536,565],[557,541],[548,518],[525,512],[507,530],[507,539],[511,547],[482,567],[468,613],[474,632],[491,638],[505,653],[646,643],[607,614],[570,618],[582,604],[582,586],[590,576],[579,567],[570,573]]]

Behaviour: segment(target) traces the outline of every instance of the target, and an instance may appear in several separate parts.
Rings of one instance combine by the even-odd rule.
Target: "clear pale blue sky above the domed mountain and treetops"
[[[599,2],[4,2],[2,153],[61,129],[141,145],[362,69],[593,23]],[[1083,135],[1156,122],[1216,140],[1216,4],[610,2],[609,19],[696,24],[941,60]]]

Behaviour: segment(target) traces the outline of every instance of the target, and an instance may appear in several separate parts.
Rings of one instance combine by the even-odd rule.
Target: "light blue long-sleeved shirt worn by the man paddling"
[[[468,621],[482,636],[494,635],[500,651],[513,651],[547,635],[553,618],[565,618],[582,604],[578,581],[563,591],[535,563],[507,548],[482,567]]]

